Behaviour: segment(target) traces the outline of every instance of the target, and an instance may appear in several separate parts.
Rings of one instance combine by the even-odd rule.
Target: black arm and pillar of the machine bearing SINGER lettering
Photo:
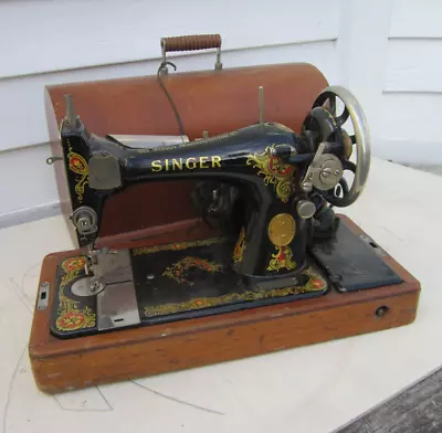
[[[239,233],[242,231],[242,235],[246,236],[246,252],[235,260],[239,273],[251,277],[272,274],[267,267],[276,249],[265,229],[273,216],[284,213],[293,214],[296,234],[293,233],[291,242],[284,245],[287,266],[275,270],[276,275],[305,267],[311,224],[308,220],[297,218],[292,211],[294,203],[290,200],[295,181],[299,182],[301,171],[270,154],[271,149],[287,145],[301,150],[299,137],[292,130],[275,124],[254,125],[213,138],[146,150],[127,148],[118,141],[96,137],[82,124],[77,125],[78,129],[74,133],[70,126],[62,127],[74,208],[91,207],[99,220],[105,200],[118,193],[122,187],[164,179],[208,179],[209,186],[218,188],[217,192],[222,196],[219,201],[223,201],[223,209],[213,210],[213,213],[225,213],[232,219],[230,229]],[[78,178],[78,165],[94,166],[93,173],[91,168],[87,170],[87,181]],[[203,204],[204,198],[197,200],[196,205]],[[96,232],[78,234],[78,242],[82,246],[87,245],[94,236]]]

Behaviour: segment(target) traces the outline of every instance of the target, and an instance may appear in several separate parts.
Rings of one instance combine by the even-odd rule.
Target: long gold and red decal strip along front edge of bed
[[[243,293],[230,293],[218,297],[200,297],[179,304],[177,303],[146,306],[144,308],[144,311],[146,317],[165,316],[191,309],[215,307],[235,302],[260,300],[288,295],[298,295],[302,293],[322,292],[327,288],[327,282],[322,277],[319,273],[313,271],[312,268],[307,268],[303,272],[303,274],[309,277],[304,286],[274,288],[272,291],[262,288],[256,292],[248,291]]]

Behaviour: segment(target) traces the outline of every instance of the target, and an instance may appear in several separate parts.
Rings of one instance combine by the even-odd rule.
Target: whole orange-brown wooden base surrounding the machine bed
[[[354,223],[351,229],[364,233]],[[162,236],[149,240],[164,242]],[[54,287],[56,265],[67,255],[72,252],[46,256],[40,283]],[[415,318],[420,284],[392,257],[383,258],[403,283],[70,340],[50,334],[52,291],[49,308],[35,308],[32,323],[35,382],[56,393],[408,325]],[[387,307],[381,317],[380,307]]]

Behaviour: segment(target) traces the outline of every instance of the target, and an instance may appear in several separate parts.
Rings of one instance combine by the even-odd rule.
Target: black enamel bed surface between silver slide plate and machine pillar
[[[232,240],[233,241],[233,240]],[[234,242],[234,241],[233,241]],[[278,296],[276,294],[282,291],[265,291],[250,283],[246,278],[232,271],[230,266],[223,265],[220,271],[213,273],[207,272],[199,267],[191,267],[183,273],[186,282],[178,283],[166,276],[165,270],[175,263],[179,263],[182,256],[199,257],[209,263],[228,263],[232,242],[224,242],[201,247],[190,247],[176,252],[159,252],[155,255],[133,255],[131,263],[134,270],[134,278],[136,281],[135,288],[137,292],[137,300],[139,306],[139,315],[144,325],[156,323],[175,321],[193,317],[210,316],[213,314],[236,311],[240,309],[262,307],[275,303],[292,302],[301,298],[322,296],[326,293],[327,286],[323,289],[309,292],[303,291],[301,286],[308,282],[308,277],[302,273],[297,276],[299,286],[298,293]],[[155,258],[154,258],[155,257]],[[320,275],[320,271],[316,265],[308,261]],[[146,278],[147,274],[156,275],[154,279]],[[253,294],[266,293],[265,298],[253,299]],[[204,299],[206,307],[193,308],[191,304],[196,304]],[[222,299],[215,305],[211,305],[211,300]],[[149,308],[155,310],[156,306],[177,305],[181,306],[180,310],[173,313],[148,313]],[[146,309],[146,307],[148,307]]]

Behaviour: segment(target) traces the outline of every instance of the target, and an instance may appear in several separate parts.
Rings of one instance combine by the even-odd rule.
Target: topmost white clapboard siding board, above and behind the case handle
[[[157,59],[161,36],[220,33],[225,50],[338,36],[338,0],[0,2],[0,76]],[[17,55],[20,53],[20,55]]]

